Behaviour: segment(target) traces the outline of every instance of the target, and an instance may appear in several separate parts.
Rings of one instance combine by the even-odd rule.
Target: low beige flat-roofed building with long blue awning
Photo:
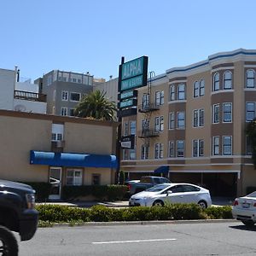
[[[0,110],[0,178],[63,185],[114,183],[116,122]]]

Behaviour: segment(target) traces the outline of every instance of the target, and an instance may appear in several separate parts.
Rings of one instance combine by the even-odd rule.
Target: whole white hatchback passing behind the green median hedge
[[[162,183],[131,195],[131,207],[164,206],[170,203],[196,203],[202,208],[212,206],[209,190],[190,183]]]

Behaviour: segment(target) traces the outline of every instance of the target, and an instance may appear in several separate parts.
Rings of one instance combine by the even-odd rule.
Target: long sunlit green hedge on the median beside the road
[[[230,206],[202,209],[197,204],[126,208],[104,206],[79,208],[42,204],[38,205],[36,209],[39,212],[39,220],[42,225],[45,223],[232,218]]]

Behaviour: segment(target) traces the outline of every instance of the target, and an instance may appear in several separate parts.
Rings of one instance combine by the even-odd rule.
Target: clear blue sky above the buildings
[[[256,49],[254,0],[2,0],[0,68],[37,79],[60,69],[109,79],[121,56],[148,71]]]

